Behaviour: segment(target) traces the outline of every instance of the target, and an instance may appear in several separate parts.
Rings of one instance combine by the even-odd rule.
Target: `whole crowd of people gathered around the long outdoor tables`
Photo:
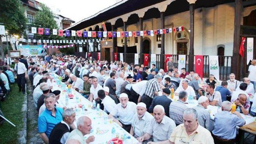
[[[245,124],[241,114],[256,116],[255,59],[248,69],[248,77],[239,81],[230,73],[229,80],[222,82],[214,75],[202,80],[194,70],[188,72],[183,68],[179,71],[172,59],[167,63],[167,72],[158,70],[155,64],[147,67],[92,57],[28,57],[27,66],[22,59],[14,59],[13,71],[17,73],[20,90],[23,91],[26,77],[34,87],[34,106],[39,112],[38,130],[45,143],[94,141],[93,135],[84,138],[92,129],[91,119],[86,116],[75,119],[75,111],[58,102],[60,90],[52,91],[50,73],[62,77],[63,83],[89,101],[100,104],[100,109],[109,114],[109,118],[140,143],[234,143],[236,127]],[[5,84],[12,77],[2,78],[2,71],[6,69],[10,68],[2,70],[0,67]],[[10,72],[6,73],[9,75]],[[179,99],[172,101],[172,93]],[[197,100],[198,105],[188,108],[188,98]],[[236,105],[237,111],[230,113],[232,104]],[[206,110],[208,105],[222,110],[215,114],[214,120]]]

